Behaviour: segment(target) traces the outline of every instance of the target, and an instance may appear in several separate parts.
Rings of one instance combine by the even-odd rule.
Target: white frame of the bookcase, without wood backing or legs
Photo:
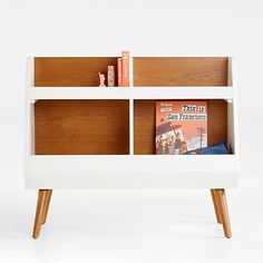
[[[233,188],[238,184],[240,140],[234,59],[228,87],[38,87],[27,60],[25,177],[27,188]],[[35,155],[38,99],[129,99],[129,155]],[[134,155],[134,99],[225,99],[231,155]],[[176,162],[176,166],[173,163]],[[163,168],[165,167],[165,168]]]

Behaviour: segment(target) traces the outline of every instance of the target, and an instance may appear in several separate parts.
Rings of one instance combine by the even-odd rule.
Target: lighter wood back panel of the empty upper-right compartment
[[[134,86],[227,86],[227,58],[134,58]]]

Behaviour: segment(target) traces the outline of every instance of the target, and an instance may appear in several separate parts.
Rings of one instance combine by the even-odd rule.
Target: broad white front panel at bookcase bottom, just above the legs
[[[236,155],[31,155],[28,188],[233,188]]]

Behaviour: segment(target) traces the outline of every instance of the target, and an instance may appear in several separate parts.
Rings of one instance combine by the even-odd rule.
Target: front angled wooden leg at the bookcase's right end
[[[230,224],[230,215],[227,210],[227,203],[225,197],[225,189],[214,189],[216,201],[220,208],[220,215],[225,233],[225,237],[231,238],[232,232],[231,232],[231,224]]]

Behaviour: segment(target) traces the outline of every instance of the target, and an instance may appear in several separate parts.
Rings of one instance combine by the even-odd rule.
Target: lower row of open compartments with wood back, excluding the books
[[[224,99],[204,100],[208,116],[207,145],[224,142],[234,153],[233,104]],[[133,103],[132,111],[128,99],[38,100],[35,104],[32,154],[155,154],[156,99],[135,99]],[[130,114],[133,118],[129,118]]]

